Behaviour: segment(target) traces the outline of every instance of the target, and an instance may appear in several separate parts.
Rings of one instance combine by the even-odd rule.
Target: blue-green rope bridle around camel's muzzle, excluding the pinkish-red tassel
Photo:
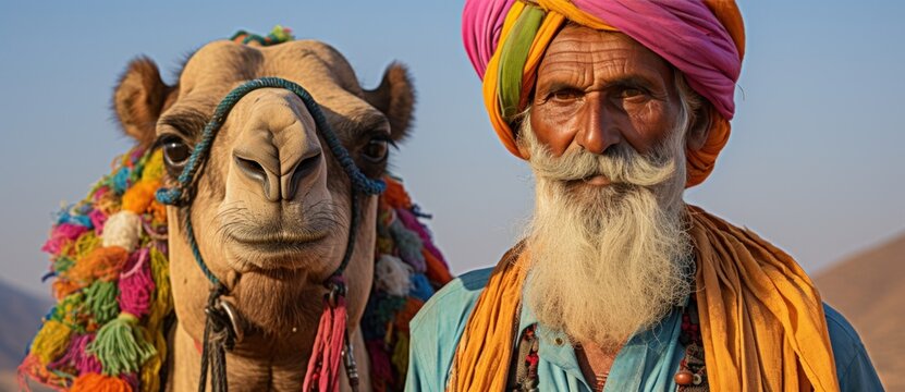
[[[320,106],[302,86],[280,77],[261,77],[236,87],[220,101],[217,109],[213,111],[213,117],[205,125],[204,132],[201,133],[201,139],[195,145],[195,148],[192,150],[192,155],[185,163],[185,168],[176,179],[176,185],[171,188],[160,188],[156,194],[157,200],[162,204],[185,208],[185,232],[188,246],[192,248],[195,262],[213,286],[210,292],[210,296],[208,297],[208,306],[205,309],[205,313],[207,314],[207,322],[205,326],[205,342],[203,345],[204,352],[201,353],[201,378],[198,387],[199,391],[204,391],[206,388],[209,356],[212,356],[210,360],[213,363],[212,372],[215,375],[211,378],[211,387],[215,391],[225,391],[225,353],[223,352],[223,347],[227,350],[232,348],[235,343],[236,326],[235,320],[233,320],[233,310],[229,308],[229,306],[225,306],[224,309],[223,303],[219,299],[221,295],[225,294],[227,290],[221,281],[210,271],[210,269],[207,268],[204,257],[201,257],[201,252],[198,249],[198,244],[195,241],[191,211],[195,194],[195,184],[198,177],[203,174],[200,168],[209,158],[213,139],[217,137],[218,132],[227,121],[227,115],[230,113],[230,110],[232,110],[242,97],[258,88],[284,88],[301,98],[305,103],[305,108],[308,109],[308,112],[310,112],[314,118],[317,131],[320,132],[320,135],[323,137],[323,140],[327,143],[327,146],[330,148],[333,157],[337,158],[340,166],[343,168],[343,171],[345,171],[352,182],[352,218],[345,254],[343,255],[343,259],[337,270],[333,271],[327,281],[325,281],[325,285],[329,290],[328,296],[331,298],[331,302],[337,295],[345,295],[345,284],[342,280],[342,273],[348,266],[348,261],[351,260],[352,253],[355,248],[355,233],[360,221],[358,196],[379,195],[387,187],[387,184],[383,181],[369,179],[362,173],[357,166],[355,166],[355,161],[348,155],[345,147],[343,147],[342,143],[340,143],[340,138],[323,117]],[[219,333],[221,336],[211,338],[211,334],[215,333]],[[216,343],[213,344],[220,344],[215,347],[212,355],[208,352],[209,340],[211,339],[216,340]],[[346,342],[346,370],[352,372],[355,370],[355,364],[354,359],[351,357],[352,353],[351,350],[348,350],[351,348],[348,342]]]

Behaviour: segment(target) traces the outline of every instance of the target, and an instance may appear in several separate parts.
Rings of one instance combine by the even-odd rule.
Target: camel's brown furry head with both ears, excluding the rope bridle
[[[381,84],[367,90],[348,62],[318,41],[215,41],[191,56],[174,86],[140,58],[125,71],[113,105],[126,134],[163,149],[172,185],[220,100],[264,76],[307,89],[362,172],[384,173],[389,147],[405,138],[412,120],[406,70],[390,65]],[[178,328],[201,341],[210,289],[187,245],[191,213],[198,249],[243,320],[245,338],[234,355],[303,363],[327,293],[322,282],[345,253],[350,179],[303,101],[278,88],[256,89],[235,105],[199,173],[189,207],[168,207]],[[350,326],[362,317],[374,271],[377,197],[358,203],[362,220],[344,272]]]

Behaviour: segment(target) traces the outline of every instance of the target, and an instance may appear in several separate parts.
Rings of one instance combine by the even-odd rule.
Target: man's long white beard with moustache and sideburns
[[[647,157],[624,143],[604,155],[552,157],[527,115],[523,124],[519,143],[530,151],[537,186],[527,305],[575,343],[619,347],[692,290],[682,200],[687,115]],[[596,174],[611,184],[582,182]]]

